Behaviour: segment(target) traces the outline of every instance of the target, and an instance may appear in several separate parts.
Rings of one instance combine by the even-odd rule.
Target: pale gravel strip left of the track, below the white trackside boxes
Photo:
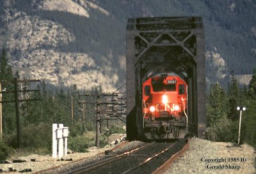
[[[125,143],[125,141],[124,141]],[[121,146],[120,146],[121,145]],[[90,148],[89,152],[86,153],[78,153],[74,152],[72,154],[67,154],[66,157],[63,157],[63,160],[58,160],[56,158],[52,158],[52,156],[39,156],[33,154],[31,156],[26,157],[18,157],[22,161],[26,161],[25,163],[12,163],[10,164],[0,164],[0,173],[7,173],[8,171],[12,171],[12,173],[20,173],[20,171],[28,172],[28,173],[63,173],[63,171],[68,171],[70,168],[76,168],[81,164],[92,163],[93,161],[99,161],[106,157],[105,152],[114,148],[114,151],[111,150],[113,154],[121,154],[122,152],[126,152],[134,149],[135,147],[141,147],[145,145],[144,142],[141,141],[132,141],[124,146],[122,143],[117,145],[106,145],[104,148]],[[31,161],[31,159],[33,159]],[[68,161],[72,159],[72,161]],[[67,160],[67,161],[66,161]],[[47,171],[47,169],[52,168],[51,171]],[[68,168],[66,170],[66,168]],[[43,171],[46,170],[46,171]]]

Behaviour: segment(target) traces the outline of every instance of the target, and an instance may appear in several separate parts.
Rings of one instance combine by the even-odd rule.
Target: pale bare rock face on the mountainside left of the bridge
[[[58,10],[89,18],[86,10],[94,8],[104,15],[108,11],[87,1],[41,1],[34,10]],[[88,4],[88,5],[87,5]],[[58,22],[37,15],[17,11],[15,1],[4,1],[4,24],[1,28],[0,47],[8,48],[10,64],[21,76],[45,80],[52,85],[77,85],[90,90],[102,86],[104,92],[115,91],[118,75],[113,73],[111,62],[100,67],[95,57],[79,52],[61,52],[56,47],[74,42],[76,37]]]

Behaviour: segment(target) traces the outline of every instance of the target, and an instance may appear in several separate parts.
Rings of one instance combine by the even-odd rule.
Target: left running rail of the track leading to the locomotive
[[[86,166],[81,166],[79,168],[76,168],[74,170],[70,170],[70,171],[67,171],[63,174],[71,174],[71,173],[84,173],[84,172],[88,172],[88,171],[91,171],[93,170],[94,168],[97,168],[99,166],[103,166],[104,164],[108,164],[110,162],[113,162],[113,161],[116,161],[117,159],[120,159],[124,156],[129,156],[130,154],[134,153],[134,152],[139,152],[140,150],[143,150],[147,147],[150,147],[152,146],[154,143],[156,142],[152,142],[152,143],[148,143],[146,145],[143,145],[141,147],[138,147],[136,149],[133,149],[129,152],[124,152],[123,154],[120,154],[120,155],[117,155],[117,156],[113,156],[113,157],[109,157],[108,159],[104,159],[102,161],[98,161],[97,163],[93,163],[93,164],[88,164]]]

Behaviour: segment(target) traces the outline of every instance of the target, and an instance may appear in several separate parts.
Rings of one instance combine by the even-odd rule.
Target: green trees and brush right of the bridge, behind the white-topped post
[[[240,113],[237,106],[246,107],[242,113],[241,141],[256,147],[256,68],[248,87],[239,87],[234,76],[227,91],[220,83],[211,85],[207,94],[205,138],[237,143]]]

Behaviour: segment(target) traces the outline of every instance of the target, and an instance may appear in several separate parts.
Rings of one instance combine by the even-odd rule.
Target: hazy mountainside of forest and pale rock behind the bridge
[[[125,26],[131,17],[203,16],[209,83],[219,80],[227,85],[230,74],[251,74],[256,64],[254,0],[0,0],[0,4],[0,48],[7,48],[13,69],[54,85],[76,83],[79,89],[101,85],[103,91],[122,85]]]

